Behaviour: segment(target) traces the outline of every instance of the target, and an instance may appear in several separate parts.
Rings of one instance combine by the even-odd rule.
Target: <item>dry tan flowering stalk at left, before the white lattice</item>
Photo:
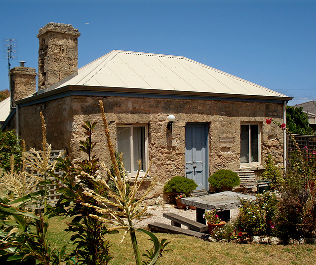
[[[28,173],[28,176],[35,178],[40,185],[44,186],[44,214],[47,211],[47,196],[48,187],[50,181],[48,179],[49,171],[53,170],[56,163],[56,159],[50,159],[51,145],[47,143],[46,140],[46,124],[44,115],[40,112],[41,119],[41,131],[42,131],[42,151],[37,151],[31,148],[29,152],[23,152],[23,160],[27,163],[27,168],[31,171],[36,171],[37,175],[32,175]],[[59,152],[57,158],[60,158],[64,152]]]

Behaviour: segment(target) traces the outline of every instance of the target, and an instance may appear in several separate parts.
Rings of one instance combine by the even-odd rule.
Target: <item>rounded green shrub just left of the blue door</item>
[[[164,185],[163,192],[191,193],[195,189],[197,184],[194,180],[175,176]]]

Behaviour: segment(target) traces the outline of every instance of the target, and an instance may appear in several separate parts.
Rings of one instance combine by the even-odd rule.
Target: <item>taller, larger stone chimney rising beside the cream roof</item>
[[[48,23],[39,30],[39,89],[78,71],[78,37],[73,25]]]

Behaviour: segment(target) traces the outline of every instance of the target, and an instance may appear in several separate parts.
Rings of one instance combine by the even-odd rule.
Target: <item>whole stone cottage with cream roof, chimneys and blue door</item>
[[[267,153],[283,163],[283,131],[265,120],[284,122],[290,97],[179,56],[114,50],[78,69],[79,35],[66,24],[40,29],[38,91],[31,85],[33,94],[14,99],[5,123],[16,127],[27,147],[40,147],[40,112],[48,142],[74,159],[82,155],[83,121],[98,121],[95,151],[110,164],[98,105],[102,100],[130,177],[138,159],[142,171],[153,161],[150,174],[158,176],[158,186],[152,196],[176,175],[194,179],[198,191],[207,191],[207,178],[218,169],[259,172]],[[34,71],[11,69],[11,80],[20,83],[14,89],[29,86]],[[30,82],[23,85],[20,79]]]

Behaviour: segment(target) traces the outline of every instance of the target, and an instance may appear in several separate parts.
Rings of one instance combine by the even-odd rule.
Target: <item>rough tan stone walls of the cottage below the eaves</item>
[[[74,159],[82,156],[78,149],[79,141],[86,138],[82,129],[84,120],[97,121],[92,139],[97,142],[94,151],[100,161],[110,166],[99,99],[104,102],[115,146],[118,124],[148,124],[149,159],[154,162],[151,175],[158,176],[158,185],[153,196],[161,194],[164,184],[173,176],[185,175],[185,126],[188,122],[203,122],[209,126],[209,174],[218,169],[239,169],[241,122],[261,124],[261,164],[264,164],[266,153],[273,153],[278,163],[283,161],[282,130],[275,124],[268,125],[265,122],[269,117],[282,122],[283,105],[278,103],[69,96],[25,108],[28,108],[28,116],[32,119],[39,117],[36,113],[40,110],[43,111],[48,125],[48,142],[54,149],[66,148],[68,155]],[[166,128],[169,114],[176,117],[172,132]],[[38,121],[35,123],[37,128],[24,134],[30,147],[38,145],[36,141],[41,139],[40,124]],[[225,139],[230,141],[225,142]]]

